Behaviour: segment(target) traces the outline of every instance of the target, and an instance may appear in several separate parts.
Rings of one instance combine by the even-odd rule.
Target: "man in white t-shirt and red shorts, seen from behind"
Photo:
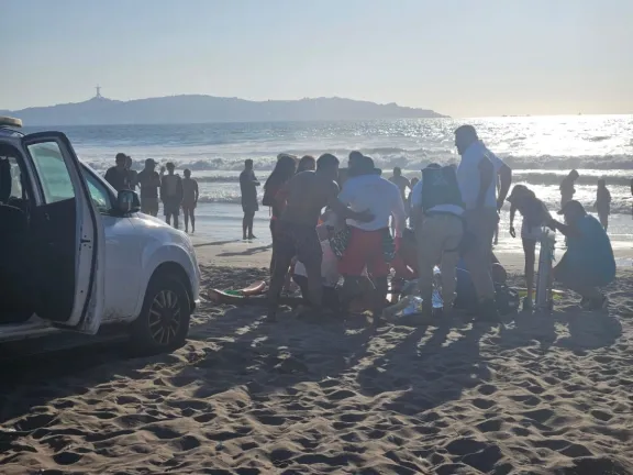
[[[400,190],[375,173],[371,158],[364,157],[354,168],[356,169],[351,169],[353,177],[345,181],[338,200],[348,205],[352,210],[370,212],[374,220],[347,220],[351,236],[338,263],[338,270],[345,277],[344,294],[347,300],[351,300],[352,294],[357,289],[358,277],[367,267],[376,286],[374,321],[377,322],[385,307],[387,277],[390,273],[390,265],[385,256],[385,243],[391,239],[389,218],[393,216],[398,239],[402,235],[407,214]]]

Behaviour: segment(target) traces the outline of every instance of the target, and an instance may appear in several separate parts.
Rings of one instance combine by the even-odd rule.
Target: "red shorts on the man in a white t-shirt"
[[[359,277],[365,266],[373,277],[387,277],[390,266],[385,261],[382,238],[385,230],[363,231],[351,227],[349,242],[338,262],[343,276]]]

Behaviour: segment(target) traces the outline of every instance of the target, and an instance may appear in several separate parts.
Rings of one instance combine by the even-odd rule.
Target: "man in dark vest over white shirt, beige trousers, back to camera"
[[[464,202],[455,168],[431,164],[411,192],[411,217],[418,243],[418,276],[423,317],[433,311],[433,268],[440,263],[444,312],[455,300],[459,245],[464,236]]]

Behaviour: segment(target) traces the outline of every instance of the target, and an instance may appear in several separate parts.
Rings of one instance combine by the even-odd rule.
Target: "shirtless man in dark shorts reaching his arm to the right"
[[[279,295],[295,256],[306,267],[310,302],[316,311],[322,309],[321,261],[323,255],[316,233],[321,210],[330,206],[332,211],[342,218],[351,218],[360,222],[374,219],[368,211],[352,211],[338,200],[338,185],[334,181],[337,176],[338,158],[324,154],[316,161],[315,172],[297,174],[284,186],[286,208],[275,227],[273,241],[275,261],[268,290],[270,305],[268,318],[271,321],[276,318]]]

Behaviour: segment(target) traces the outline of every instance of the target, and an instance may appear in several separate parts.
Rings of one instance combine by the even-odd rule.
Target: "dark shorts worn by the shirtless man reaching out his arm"
[[[321,268],[323,251],[316,227],[278,220],[274,229],[273,252],[276,258],[297,259],[306,267]]]

